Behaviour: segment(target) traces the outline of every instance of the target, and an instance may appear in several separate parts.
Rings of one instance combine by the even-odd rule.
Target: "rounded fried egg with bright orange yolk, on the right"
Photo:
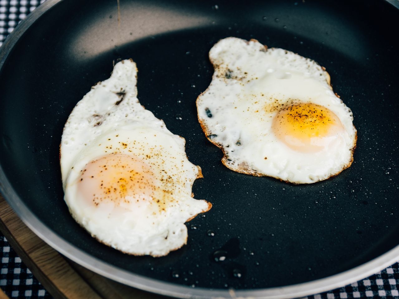
[[[314,183],[351,165],[352,112],[316,62],[235,37],[217,42],[209,59],[215,71],[197,98],[198,120],[226,167]]]

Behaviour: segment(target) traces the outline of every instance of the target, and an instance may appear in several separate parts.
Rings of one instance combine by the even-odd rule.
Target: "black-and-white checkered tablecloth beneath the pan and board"
[[[45,0],[0,0],[0,46],[18,23]],[[51,298],[0,235],[0,287],[10,298]],[[346,287],[308,296],[309,299],[399,298],[399,264]]]

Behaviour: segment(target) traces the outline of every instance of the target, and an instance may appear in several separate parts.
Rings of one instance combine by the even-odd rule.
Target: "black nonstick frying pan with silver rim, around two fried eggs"
[[[48,0],[0,54],[0,181],[8,203],[48,244],[102,275],[176,297],[299,297],[399,260],[397,8],[385,1]],[[208,142],[195,100],[219,39],[255,38],[326,67],[358,129],[354,163],[311,185],[235,173]],[[138,98],[186,138],[213,208],[188,244],[163,258],[122,254],[91,238],[63,201],[59,143],[74,105],[133,58]],[[181,119],[180,119],[181,118]],[[224,261],[215,252],[226,251]],[[220,253],[220,252],[219,252]]]

